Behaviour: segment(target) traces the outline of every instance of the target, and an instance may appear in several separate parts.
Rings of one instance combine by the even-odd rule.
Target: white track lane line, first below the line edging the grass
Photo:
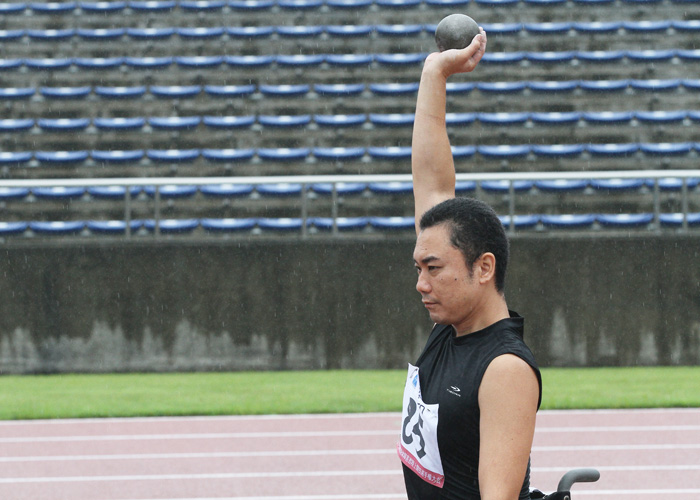
[[[620,427],[544,427],[535,433],[602,433],[602,432],[673,432],[700,431],[700,425],[649,425]],[[287,437],[362,437],[393,436],[398,429],[360,431],[289,431],[289,432],[220,432],[182,434],[114,434],[85,436],[25,436],[3,437],[0,443],[66,443],[72,441],[153,441],[182,439],[268,439]]]

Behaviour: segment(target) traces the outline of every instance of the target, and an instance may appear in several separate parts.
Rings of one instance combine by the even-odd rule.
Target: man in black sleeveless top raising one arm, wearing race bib
[[[413,130],[416,289],[436,323],[404,391],[399,456],[410,500],[529,499],[541,378],[504,295],[508,240],[486,204],[455,198],[446,82],[486,50],[425,61]]]

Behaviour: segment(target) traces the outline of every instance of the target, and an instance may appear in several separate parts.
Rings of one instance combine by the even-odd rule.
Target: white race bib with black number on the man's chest
[[[437,444],[439,406],[423,402],[418,368],[409,363],[403,391],[401,439],[397,451],[404,465],[418,477],[442,488],[445,475]]]

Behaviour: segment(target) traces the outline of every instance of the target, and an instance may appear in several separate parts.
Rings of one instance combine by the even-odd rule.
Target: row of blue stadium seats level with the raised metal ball
[[[177,36],[182,40],[260,39],[277,35],[283,38],[372,37],[390,36],[416,37],[421,34],[433,36],[436,24],[348,24],[308,26],[214,26],[214,27],[159,27],[159,28],[62,28],[62,29],[11,29],[0,30],[0,42],[61,42],[131,40],[171,41]],[[489,35],[560,35],[570,34],[615,34],[652,33],[668,35],[676,32],[700,32],[700,20],[660,21],[581,21],[538,23],[491,23],[484,24]]]

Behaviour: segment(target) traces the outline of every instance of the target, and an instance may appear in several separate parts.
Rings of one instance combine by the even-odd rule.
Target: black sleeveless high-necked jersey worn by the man
[[[523,341],[524,320],[510,318],[460,337],[451,325],[435,325],[416,366],[420,370],[423,401],[439,404],[437,440],[444,469],[442,488],[433,486],[405,465],[409,500],[479,500],[479,386],[491,361],[514,354],[537,375],[542,400],[542,378],[530,349]],[[538,402],[539,408],[539,402]],[[530,465],[520,492],[529,499]]]

